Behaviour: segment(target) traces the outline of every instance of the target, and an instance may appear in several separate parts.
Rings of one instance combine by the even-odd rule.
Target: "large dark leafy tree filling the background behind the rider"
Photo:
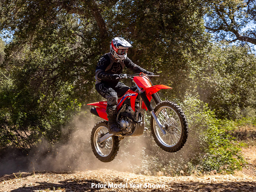
[[[169,96],[180,97],[190,88],[190,61],[208,44],[200,1],[3,0],[0,6],[0,30],[13,34],[2,65],[12,83],[0,90],[3,135],[14,138],[5,146],[21,140],[19,148],[31,148],[42,137],[54,143],[81,106],[101,98],[95,67],[113,37],[130,41],[128,56],[160,72],[158,81],[175,90]]]

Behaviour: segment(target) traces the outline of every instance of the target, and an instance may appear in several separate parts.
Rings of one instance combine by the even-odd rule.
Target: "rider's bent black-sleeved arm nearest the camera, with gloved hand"
[[[103,55],[100,58],[95,71],[96,80],[105,80],[105,79],[115,80],[117,77],[119,77],[119,75],[117,74],[110,74],[105,72],[105,69],[108,67],[110,63],[108,59],[109,57],[106,55]]]

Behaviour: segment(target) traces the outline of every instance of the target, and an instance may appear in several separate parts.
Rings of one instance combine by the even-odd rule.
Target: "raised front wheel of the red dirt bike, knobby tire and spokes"
[[[188,123],[184,112],[171,101],[158,103],[154,111],[166,132],[163,135],[155,119],[151,117],[151,132],[157,145],[167,152],[179,151],[188,139]]]

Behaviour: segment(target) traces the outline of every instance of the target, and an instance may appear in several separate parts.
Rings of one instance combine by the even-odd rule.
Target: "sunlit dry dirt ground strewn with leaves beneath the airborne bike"
[[[255,153],[256,147],[243,149],[244,157],[249,164],[242,171],[236,172],[234,175],[216,174],[205,175],[203,177],[156,177],[136,175],[128,172],[117,172],[108,169],[98,169],[86,172],[36,172],[35,174],[22,172],[0,177],[0,191],[256,192]],[[113,186],[111,186],[112,183]],[[95,188],[96,184],[97,188]],[[100,186],[98,186],[99,184]],[[94,186],[92,187],[92,185]]]

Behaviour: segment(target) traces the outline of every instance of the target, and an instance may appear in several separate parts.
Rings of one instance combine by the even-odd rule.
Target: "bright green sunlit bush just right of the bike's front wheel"
[[[190,130],[196,129],[192,134],[196,133],[200,142],[198,147],[202,150],[201,155],[192,160],[195,161],[192,164],[200,165],[204,172],[233,172],[240,169],[244,160],[238,143],[226,132],[226,127],[220,125],[220,120],[216,119],[207,104],[188,96],[184,101],[184,111],[190,122]]]

